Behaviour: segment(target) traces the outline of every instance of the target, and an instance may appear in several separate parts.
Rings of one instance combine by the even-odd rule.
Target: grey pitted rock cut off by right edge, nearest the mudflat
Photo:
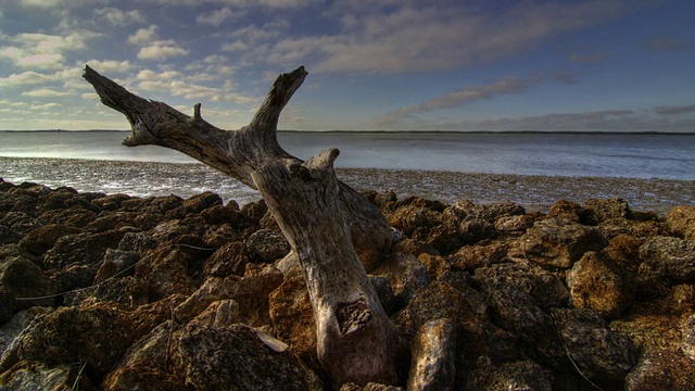
[[[647,239],[640,248],[640,273],[675,281],[695,279],[695,242],[672,237]]]

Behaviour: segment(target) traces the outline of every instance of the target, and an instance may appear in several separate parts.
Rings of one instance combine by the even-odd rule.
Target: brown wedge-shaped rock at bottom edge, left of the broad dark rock
[[[172,365],[172,356],[176,354],[176,350],[172,346],[174,344],[172,328],[176,328],[176,324],[167,320],[134,343],[115,368],[106,375],[101,389],[110,391],[189,390],[185,378],[168,369]],[[179,335],[180,332],[176,333],[177,337]]]

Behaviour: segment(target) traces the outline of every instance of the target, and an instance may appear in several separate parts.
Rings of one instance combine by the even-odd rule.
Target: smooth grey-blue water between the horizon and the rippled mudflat
[[[0,156],[194,163],[125,131],[0,133]],[[695,135],[279,133],[300,159],[338,148],[337,167],[695,179]],[[2,175],[2,173],[0,173]]]

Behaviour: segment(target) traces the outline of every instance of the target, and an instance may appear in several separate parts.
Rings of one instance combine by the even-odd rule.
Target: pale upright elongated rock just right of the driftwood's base
[[[413,340],[407,390],[450,390],[456,374],[456,325],[448,318],[426,323]]]

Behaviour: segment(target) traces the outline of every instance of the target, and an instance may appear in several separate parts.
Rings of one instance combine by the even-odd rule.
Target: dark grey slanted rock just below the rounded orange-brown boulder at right
[[[553,308],[563,345],[581,373],[591,380],[623,381],[637,362],[632,341],[611,331],[591,310]]]

